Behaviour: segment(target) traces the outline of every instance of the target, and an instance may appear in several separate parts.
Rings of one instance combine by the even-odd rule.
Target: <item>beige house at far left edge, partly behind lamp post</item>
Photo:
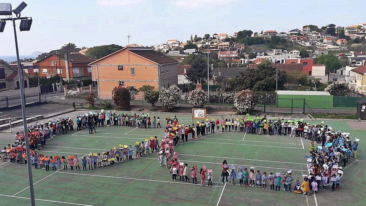
[[[24,88],[29,87],[29,78],[31,76],[24,73]],[[12,67],[4,60],[0,59],[0,89],[19,89],[18,69]]]

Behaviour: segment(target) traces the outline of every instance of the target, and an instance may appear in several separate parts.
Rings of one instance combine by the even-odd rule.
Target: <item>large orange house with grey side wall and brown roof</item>
[[[151,47],[125,47],[91,62],[93,81],[101,99],[112,96],[113,88],[154,86],[156,90],[178,85],[178,61]]]

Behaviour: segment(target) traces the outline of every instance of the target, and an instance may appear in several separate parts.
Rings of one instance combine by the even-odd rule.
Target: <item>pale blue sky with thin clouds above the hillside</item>
[[[186,41],[206,33],[302,28],[329,23],[366,22],[356,12],[364,0],[24,0],[22,16],[33,18],[29,32],[19,32],[19,54],[49,52],[67,43],[78,47],[104,44],[156,45],[168,39]],[[22,0],[0,0],[13,9]],[[4,16],[1,16],[4,18]],[[287,30],[285,30],[287,31]],[[12,23],[0,33],[0,55],[15,55]]]

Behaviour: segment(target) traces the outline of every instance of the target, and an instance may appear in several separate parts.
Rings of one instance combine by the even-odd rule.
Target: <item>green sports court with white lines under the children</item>
[[[160,116],[162,126],[165,117],[174,114],[150,114]],[[180,124],[192,124],[191,115],[177,115]],[[221,118],[221,116],[208,117]],[[236,118],[236,117],[224,117]],[[270,118],[270,117],[268,117]],[[307,121],[309,122],[309,121]],[[319,121],[310,121],[319,123]],[[365,130],[353,129],[354,122],[325,121],[335,130],[350,132],[361,139],[355,161],[351,159],[343,168],[341,190],[318,191],[316,196],[305,196],[294,192],[273,191],[257,187],[240,187],[221,184],[222,162],[244,168],[255,167],[261,173],[287,172],[292,170],[295,180],[302,174],[309,174],[305,155],[309,155],[310,141],[289,136],[249,135],[234,132],[212,133],[205,138],[180,142],[175,147],[180,162],[190,168],[205,165],[213,169],[213,186],[204,187],[182,181],[171,181],[171,173],[159,167],[157,152],[147,154],[132,161],[115,163],[107,168],[88,171],[34,170],[33,182],[38,205],[364,205],[365,198],[365,158],[363,140]],[[359,124],[359,123],[358,123]],[[355,128],[355,127],[354,127]],[[102,153],[118,147],[119,144],[134,145],[150,136],[164,137],[164,128],[139,129],[127,126],[96,128],[97,133],[88,130],[56,135],[47,146],[37,153],[79,158],[92,153]],[[12,134],[8,141],[14,141]],[[317,146],[317,145],[316,145]],[[32,167],[33,168],[33,167]],[[188,172],[188,177],[190,173]],[[198,182],[200,176],[198,175]],[[0,162],[0,205],[30,205],[26,165]],[[292,184],[293,187],[294,184]],[[292,190],[293,188],[291,188]]]

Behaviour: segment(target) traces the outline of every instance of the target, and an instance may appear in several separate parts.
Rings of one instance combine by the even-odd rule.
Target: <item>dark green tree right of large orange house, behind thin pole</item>
[[[207,82],[207,58],[202,55],[195,55],[190,65],[191,67],[187,68],[187,80],[193,84],[200,80],[202,84]],[[212,77],[212,70],[209,71],[209,75]]]

